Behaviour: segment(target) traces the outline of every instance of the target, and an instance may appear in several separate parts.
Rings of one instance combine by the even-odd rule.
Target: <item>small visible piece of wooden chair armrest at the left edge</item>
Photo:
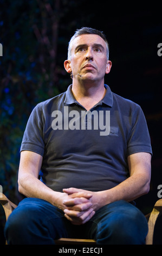
[[[3,206],[5,218],[7,221],[9,215],[17,207],[17,205],[12,203],[3,193],[0,193],[0,204]]]

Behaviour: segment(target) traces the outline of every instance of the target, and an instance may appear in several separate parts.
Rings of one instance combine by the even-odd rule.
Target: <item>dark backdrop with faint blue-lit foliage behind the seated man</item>
[[[137,200],[147,214],[162,184],[162,41],[159,2],[0,0],[0,184],[14,203],[23,132],[34,106],[64,92],[72,82],[63,68],[77,28],[103,31],[110,46],[112,91],[138,103],[150,131],[153,157],[150,192]],[[162,51],[161,51],[162,52]]]

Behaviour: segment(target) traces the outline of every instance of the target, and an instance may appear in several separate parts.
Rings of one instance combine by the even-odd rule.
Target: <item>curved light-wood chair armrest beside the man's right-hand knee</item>
[[[151,212],[150,218],[148,220],[148,234],[146,237],[146,245],[153,244],[153,233],[154,233],[154,225],[157,220],[159,213],[162,211],[162,199],[159,199]]]

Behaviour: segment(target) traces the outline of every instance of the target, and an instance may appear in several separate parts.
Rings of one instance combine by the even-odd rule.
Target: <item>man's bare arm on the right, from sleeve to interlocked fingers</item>
[[[94,211],[100,209],[102,206],[115,202],[117,200],[126,200],[128,202],[148,193],[150,190],[151,179],[151,155],[149,153],[135,153],[128,156],[129,178],[121,182],[121,184],[106,190],[92,193],[92,198],[89,199],[92,202],[92,208]],[[73,194],[73,197],[77,197],[77,193],[82,190],[76,188],[68,188],[63,190],[66,193]],[[64,210],[65,216],[69,221],[75,220],[78,212],[74,211],[73,199],[64,202],[67,209]],[[84,214],[84,212],[83,212]],[[80,224],[85,223],[84,215],[80,214]]]

